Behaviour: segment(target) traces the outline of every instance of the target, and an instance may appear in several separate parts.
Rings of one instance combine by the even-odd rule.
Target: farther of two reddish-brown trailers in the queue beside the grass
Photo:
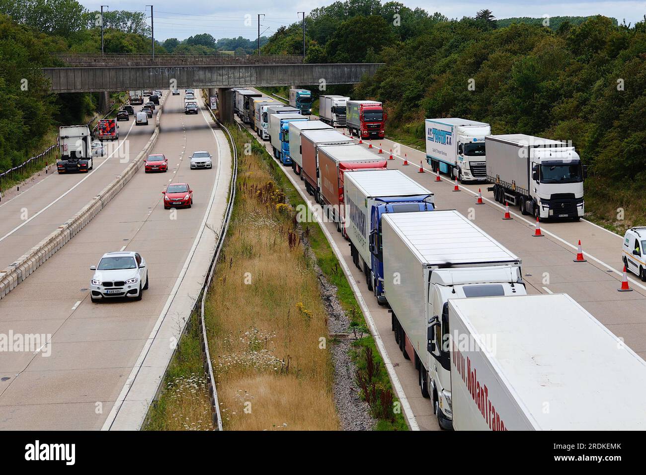
[[[305,181],[307,193],[320,196],[320,174],[318,171],[318,147],[322,145],[354,145],[354,141],[341,132],[332,130],[300,132],[300,156],[302,167],[300,178]]]

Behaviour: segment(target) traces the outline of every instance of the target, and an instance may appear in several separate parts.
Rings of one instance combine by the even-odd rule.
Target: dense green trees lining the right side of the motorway
[[[497,21],[488,10],[449,20],[394,2],[337,2],[307,17],[306,59],[384,62],[353,95],[384,102],[391,134],[422,140],[424,118],[464,117],[491,123],[494,134],[571,140],[599,196],[646,204],[646,17],[632,26],[543,20]],[[264,51],[301,53],[301,35],[300,23],[283,28]]]

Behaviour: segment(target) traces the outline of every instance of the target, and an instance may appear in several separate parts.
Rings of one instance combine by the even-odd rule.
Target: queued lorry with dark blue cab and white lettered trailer
[[[366,276],[368,290],[373,290],[377,301],[385,304],[382,215],[433,211],[435,197],[399,170],[350,171],[343,174],[343,185],[344,229],[350,240],[352,262]]]

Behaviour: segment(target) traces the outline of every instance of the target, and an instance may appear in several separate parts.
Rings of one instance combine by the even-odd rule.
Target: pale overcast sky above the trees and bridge
[[[79,0],[86,8],[99,9],[101,3],[108,4],[109,10],[145,10],[145,3],[132,0]],[[383,2],[384,0],[382,0]],[[440,12],[449,18],[474,16],[477,10],[489,8],[496,18],[548,16],[589,16],[601,14],[614,17],[620,22],[636,23],[646,14],[646,0],[587,0],[587,1],[536,1],[536,0],[492,0],[472,2],[433,2],[429,0],[400,0],[409,8],[424,8],[433,13]],[[257,14],[265,14],[260,20],[261,36],[271,36],[281,25],[298,21],[297,12],[309,13],[318,6],[330,5],[333,0],[237,0],[234,2],[213,2],[213,0],[149,0],[154,3],[155,38],[163,41],[169,37],[187,38],[198,33],[210,33],[216,38],[243,36],[255,39],[258,36]],[[260,10],[259,10],[260,8]],[[147,8],[150,16],[150,8]],[[245,25],[245,16],[247,24]],[[249,24],[251,23],[251,24]],[[149,19],[150,25],[150,19]]]

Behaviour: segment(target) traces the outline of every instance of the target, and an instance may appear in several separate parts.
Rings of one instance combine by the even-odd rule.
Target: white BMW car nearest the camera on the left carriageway
[[[141,300],[141,291],[148,288],[146,261],[139,253],[123,251],[105,253],[90,280],[90,299],[98,302],[111,297]]]

